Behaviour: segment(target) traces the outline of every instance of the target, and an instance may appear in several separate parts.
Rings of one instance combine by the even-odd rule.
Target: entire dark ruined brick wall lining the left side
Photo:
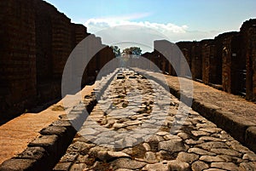
[[[90,34],[41,0],[1,1],[0,28],[0,120],[5,123],[26,109],[61,98],[67,58]],[[94,37],[81,52],[95,43],[106,47],[100,37]],[[113,58],[109,48],[97,53],[84,70],[82,84],[94,81],[96,71]],[[73,64],[74,75],[79,67],[83,66]]]

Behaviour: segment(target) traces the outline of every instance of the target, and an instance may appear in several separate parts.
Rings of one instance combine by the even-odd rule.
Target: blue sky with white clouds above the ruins
[[[74,23],[120,48],[150,51],[155,39],[200,41],[239,31],[256,18],[255,0],[46,0]]]

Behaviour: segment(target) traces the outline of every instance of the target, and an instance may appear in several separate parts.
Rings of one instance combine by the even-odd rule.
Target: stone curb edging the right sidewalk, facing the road
[[[131,70],[137,71],[135,68]],[[148,75],[147,71],[137,71],[146,77],[152,78],[160,85],[163,84],[158,77]],[[173,94],[177,99],[180,98],[180,91],[177,88],[168,85],[170,93]],[[189,99],[189,97],[185,97]],[[256,124],[247,121],[245,118],[237,117],[236,113],[230,111],[224,111],[220,107],[212,104],[203,103],[200,100],[196,100],[193,97],[191,108],[206,117],[218,125],[219,128],[223,128],[225,131],[230,133],[236,140],[240,141],[241,144],[246,145],[249,149],[256,152]],[[186,100],[184,100],[186,104]]]

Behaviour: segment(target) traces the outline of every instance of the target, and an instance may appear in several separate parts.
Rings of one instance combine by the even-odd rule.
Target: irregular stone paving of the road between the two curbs
[[[54,170],[255,170],[256,155],[158,83],[119,71]]]

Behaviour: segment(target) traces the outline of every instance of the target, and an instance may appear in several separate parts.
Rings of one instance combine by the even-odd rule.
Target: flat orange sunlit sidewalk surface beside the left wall
[[[89,95],[93,88],[94,85],[83,88],[82,96]],[[41,135],[43,128],[57,121],[63,114],[65,111],[61,100],[44,111],[25,113],[0,126],[0,164],[26,150],[27,145]]]

